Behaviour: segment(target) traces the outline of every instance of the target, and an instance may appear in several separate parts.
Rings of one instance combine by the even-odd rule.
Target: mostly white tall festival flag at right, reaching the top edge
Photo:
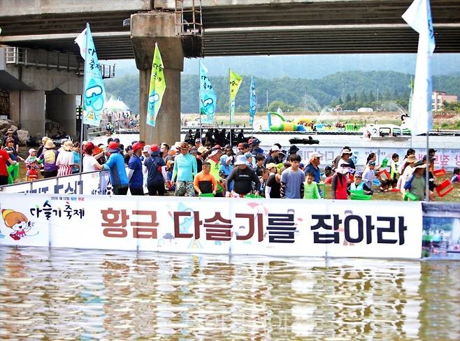
[[[419,34],[414,94],[410,105],[410,125],[413,135],[426,133],[433,126],[431,115],[431,56],[435,49],[433,21],[429,0],[414,0],[403,14],[403,20]]]

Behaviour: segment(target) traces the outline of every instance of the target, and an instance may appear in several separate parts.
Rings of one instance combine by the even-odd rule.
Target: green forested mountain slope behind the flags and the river
[[[245,111],[249,106],[251,76],[249,74],[242,75],[243,82],[236,96],[237,111]],[[307,107],[312,111],[321,111],[326,106],[335,106],[340,101],[354,97],[380,100],[408,99],[410,78],[412,78],[410,73],[395,71],[343,71],[315,79],[307,79],[302,76],[296,75],[295,78],[287,76],[279,78],[254,77],[257,82],[260,110],[267,106],[267,101],[268,103],[283,101],[294,108]],[[210,76],[210,80],[217,94],[217,111],[227,111],[228,76],[213,75]],[[199,78],[197,75],[182,74],[182,113],[198,112],[198,83]],[[460,73],[434,76],[433,89],[460,96]],[[106,80],[106,91],[115,97],[120,96],[134,113],[138,113],[137,72]]]

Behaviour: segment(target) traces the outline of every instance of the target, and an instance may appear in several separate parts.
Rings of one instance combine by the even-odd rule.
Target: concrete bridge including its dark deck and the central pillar
[[[89,22],[99,59],[136,58],[145,117],[157,41],[168,87],[158,126],[141,126],[141,136],[171,142],[178,140],[180,130],[183,57],[196,56],[196,48],[202,48],[204,56],[416,52],[418,36],[401,18],[411,2],[202,0],[204,38],[203,45],[200,41],[196,46],[185,44],[187,32],[178,35],[175,0],[2,0],[0,44],[78,55],[73,39]],[[183,1],[185,10],[191,4]],[[431,8],[436,52],[460,52],[459,1],[431,0]],[[123,25],[126,19],[129,26]],[[183,19],[193,22],[192,12],[185,11]]]

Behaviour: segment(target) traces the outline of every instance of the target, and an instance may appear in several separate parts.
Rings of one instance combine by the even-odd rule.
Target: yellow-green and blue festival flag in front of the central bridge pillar
[[[155,52],[152,61],[152,75],[150,75],[150,88],[148,92],[147,106],[147,124],[150,126],[155,126],[165,89],[166,80],[164,79],[163,60],[161,59],[158,45],[155,43]]]

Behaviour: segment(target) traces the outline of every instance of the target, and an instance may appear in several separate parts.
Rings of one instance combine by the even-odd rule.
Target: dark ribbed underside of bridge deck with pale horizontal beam
[[[228,2],[203,0],[206,56],[417,51],[417,34],[401,18],[412,0]],[[460,52],[459,0],[431,0],[431,8],[436,52]],[[129,27],[122,25],[132,13],[0,14],[0,44],[78,53],[73,39],[89,22],[99,59],[133,58]]]

